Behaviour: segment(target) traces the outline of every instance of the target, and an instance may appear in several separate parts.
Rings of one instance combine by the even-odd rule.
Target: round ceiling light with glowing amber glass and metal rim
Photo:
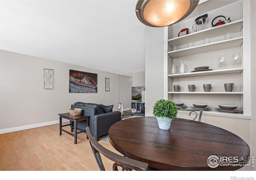
[[[138,0],[136,15],[147,26],[170,26],[186,18],[199,0]]]

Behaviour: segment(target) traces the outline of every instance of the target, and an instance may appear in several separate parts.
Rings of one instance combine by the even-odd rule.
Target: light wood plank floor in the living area
[[[70,131],[70,127],[64,127]],[[85,133],[74,137],[62,132],[59,124],[0,134],[1,171],[98,171],[89,140]],[[111,144],[98,141],[118,153]],[[102,156],[106,170],[112,170],[112,161]]]

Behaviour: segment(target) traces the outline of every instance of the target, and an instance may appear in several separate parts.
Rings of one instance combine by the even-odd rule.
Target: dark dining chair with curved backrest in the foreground
[[[105,171],[104,164],[102,162],[100,154],[105,156],[106,158],[114,161],[113,164],[113,171],[118,171],[118,167],[122,168],[122,170],[137,170],[137,171],[146,171],[149,170],[148,164],[145,162],[140,162],[138,160],[134,160],[131,158],[126,158],[124,156],[120,156],[119,154],[116,154],[106,148],[104,148],[101,144],[99,144],[94,137],[92,136],[92,133],[90,131],[90,128],[87,126],[86,133],[90,141],[90,145],[92,148],[92,152],[94,154],[94,157],[96,159],[96,162],[98,164],[98,167],[101,171]]]

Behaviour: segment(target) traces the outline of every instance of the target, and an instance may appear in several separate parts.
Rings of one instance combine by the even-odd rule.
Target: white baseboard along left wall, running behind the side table
[[[62,122],[68,122],[69,120],[62,118]],[[15,131],[21,131],[21,130],[26,130],[26,129],[32,129],[32,128],[38,128],[42,126],[49,126],[52,124],[59,124],[60,120],[55,120],[55,121],[49,121],[49,122],[42,122],[38,124],[30,124],[26,126],[18,126],[18,127],[13,127],[13,128],[6,128],[6,129],[0,129],[0,134],[8,133],[8,132],[15,132]]]

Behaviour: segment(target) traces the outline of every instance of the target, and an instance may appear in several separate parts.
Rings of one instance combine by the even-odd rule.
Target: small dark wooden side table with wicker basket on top
[[[69,114],[69,112],[68,113],[59,114],[59,115],[60,115],[60,135],[62,134],[62,131],[64,131],[64,132],[70,134],[71,136],[74,136],[74,138],[75,138],[75,142],[74,143],[76,144],[77,143],[77,134],[82,133],[82,132],[86,132],[86,130],[80,130],[80,129],[77,128],[77,122],[86,120],[86,126],[89,126],[89,118],[90,118],[90,116],[83,115],[83,114],[80,115],[80,116],[71,116]],[[71,124],[66,124],[66,125],[62,126],[62,118],[68,119],[72,123]],[[72,134],[72,133],[62,129],[62,127],[70,126],[70,125],[71,125],[71,132],[73,132],[73,127],[74,127],[74,134]],[[77,130],[79,130],[79,132],[77,132]],[[86,135],[86,137],[87,137],[87,135]],[[88,139],[88,137],[87,137],[87,139]]]

